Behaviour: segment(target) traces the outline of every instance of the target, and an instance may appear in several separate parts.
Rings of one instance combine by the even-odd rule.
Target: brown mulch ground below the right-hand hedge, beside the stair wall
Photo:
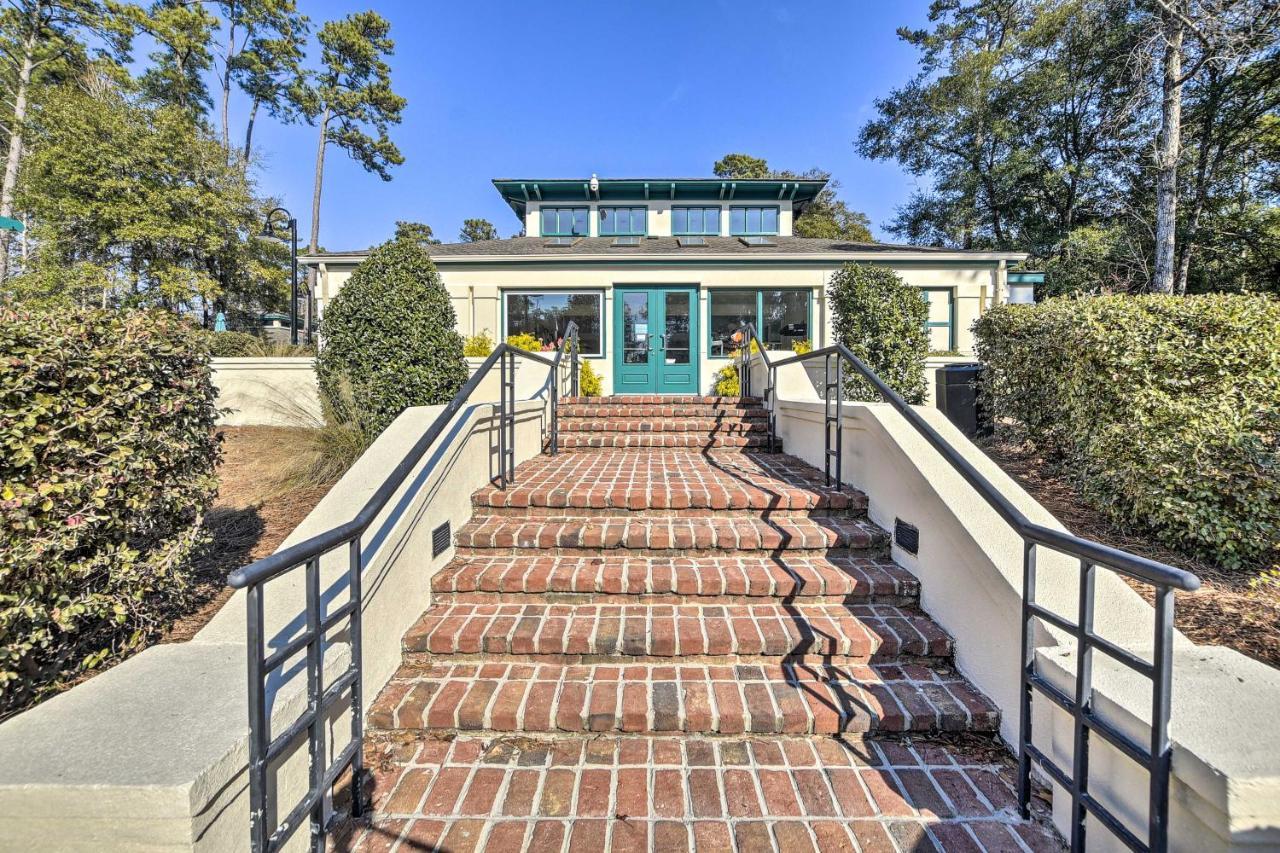
[[[1176,593],[1174,621],[1178,630],[1197,643],[1226,646],[1280,667],[1280,592],[1275,587],[1251,589],[1249,574],[1226,571],[1148,535],[1120,530],[1102,514],[1084,506],[1071,485],[1048,473],[1044,461],[1028,447],[991,441],[983,450],[1076,535],[1199,575],[1202,585],[1197,592]],[[1152,599],[1146,584],[1133,581],[1130,585],[1147,601]]]

